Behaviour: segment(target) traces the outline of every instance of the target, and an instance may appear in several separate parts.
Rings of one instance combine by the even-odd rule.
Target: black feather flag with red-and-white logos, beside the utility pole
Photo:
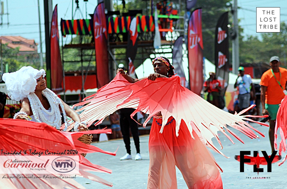
[[[224,96],[229,76],[229,53],[228,53],[228,12],[223,13],[218,19],[215,30],[215,72],[216,78],[224,87],[221,95]]]

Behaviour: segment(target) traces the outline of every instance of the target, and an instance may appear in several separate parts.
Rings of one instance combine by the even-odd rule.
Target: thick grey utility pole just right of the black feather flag
[[[235,31],[235,39],[232,40],[232,73],[238,73],[239,67],[239,28],[237,19],[237,0],[233,3],[233,30]]]

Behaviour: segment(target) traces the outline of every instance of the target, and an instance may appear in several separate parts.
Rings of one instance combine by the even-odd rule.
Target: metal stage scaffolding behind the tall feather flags
[[[110,17],[115,17],[115,15],[111,15]],[[74,21],[74,20],[71,20]],[[91,24],[92,21],[89,20],[82,20],[85,21],[87,24]],[[65,20],[65,23],[67,21]],[[154,39],[154,32],[139,32],[138,33],[138,48],[137,48],[137,55],[133,64],[135,68],[140,66],[146,59],[153,59],[155,56],[166,56],[167,58],[171,58],[172,47],[174,41],[177,39],[178,36],[184,34],[183,30],[183,16],[177,16],[176,19],[173,19],[173,26],[172,32],[167,32],[167,40],[161,41],[161,49],[154,49],[153,47],[153,39]],[[62,22],[61,22],[62,24]],[[92,26],[90,26],[92,28]],[[92,29],[91,29],[92,30]],[[86,31],[86,33],[88,33]],[[69,33],[65,33],[62,35],[68,35]],[[128,59],[126,57],[126,46],[127,46],[127,33],[108,33],[108,56],[109,56],[109,73],[110,73],[110,80],[115,77],[116,70],[118,68],[118,64],[124,64],[125,67],[128,67]],[[72,35],[75,36],[75,35]],[[70,36],[66,36],[69,38]],[[85,98],[84,93],[84,85],[86,81],[87,75],[96,74],[96,61],[95,61],[95,44],[94,44],[94,36],[93,32],[90,31],[87,35],[80,35],[77,33],[77,36],[71,38],[71,42],[65,44],[62,36],[62,64],[63,70],[71,70],[75,71],[75,73],[79,73],[82,78],[82,89],[77,100],[68,100],[65,94],[65,76],[68,73],[63,71],[64,76],[64,93],[63,93],[63,100],[66,103],[75,103],[79,102],[81,99]],[[75,53],[77,59],[71,60],[69,59],[69,53]],[[71,68],[67,68],[66,63],[73,63],[75,66]],[[77,66],[80,69],[75,70]],[[70,73],[71,75],[71,73]],[[91,81],[88,81],[91,82]]]

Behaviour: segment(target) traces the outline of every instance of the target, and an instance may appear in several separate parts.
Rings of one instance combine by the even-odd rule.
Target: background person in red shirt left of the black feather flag
[[[207,101],[218,107],[218,97],[220,95],[219,92],[221,91],[221,84],[219,80],[215,78],[214,72],[209,72],[209,79],[204,82],[203,86],[204,92],[208,92]]]

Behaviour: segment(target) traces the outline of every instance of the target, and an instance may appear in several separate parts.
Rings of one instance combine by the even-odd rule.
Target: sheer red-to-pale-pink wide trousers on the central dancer
[[[173,117],[167,121],[169,123]],[[153,118],[149,135],[148,189],[177,189],[175,166],[181,171],[189,189],[222,189],[219,170],[208,151],[184,122],[179,136],[175,135],[175,120],[159,133],[162,119]]]

